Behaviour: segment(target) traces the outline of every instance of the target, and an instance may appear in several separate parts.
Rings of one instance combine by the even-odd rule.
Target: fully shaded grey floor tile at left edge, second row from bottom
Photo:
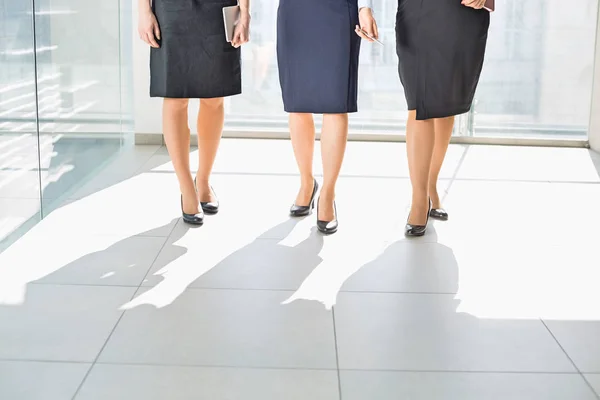
[[[29,285],[22,304],[0,305],[0,359],[93,361],[134,291]]]

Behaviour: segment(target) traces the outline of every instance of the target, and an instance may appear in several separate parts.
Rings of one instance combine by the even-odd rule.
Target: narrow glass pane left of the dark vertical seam
[[[40,217],[31,3],[0,0],[0,251]]]

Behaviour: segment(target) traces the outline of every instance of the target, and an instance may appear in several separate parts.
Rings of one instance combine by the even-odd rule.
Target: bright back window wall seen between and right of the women
[[[404,133],[397,74],[397,0],[374,0],[384,46],[363,43],[360,112],[354,133]],[[253,3],[252,42],[243,52],[244,95],[228,103],[228,128],[285,130],[275,52],[278,0]],[[492,15],[475,106],[455,134],[585,138],[590,113],[598,0],[503,0]]]

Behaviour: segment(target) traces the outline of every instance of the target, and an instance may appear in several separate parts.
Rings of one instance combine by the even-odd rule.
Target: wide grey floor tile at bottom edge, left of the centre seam
[[[338,400],[335,371],[96,364],[76,400]]]

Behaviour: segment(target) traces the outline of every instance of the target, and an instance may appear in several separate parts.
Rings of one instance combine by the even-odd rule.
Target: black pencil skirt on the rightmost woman
[[[459,0],[399,0],[398,72],[417,119],[471,109],[483,67],[490,13]]]

